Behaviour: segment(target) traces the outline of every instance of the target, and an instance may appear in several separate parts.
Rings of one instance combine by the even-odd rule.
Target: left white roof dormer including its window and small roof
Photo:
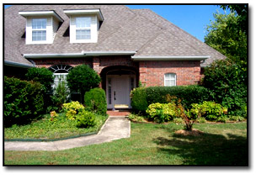
[[[63,19],[55,11],[26,11],[26,45],[52,44]]]

